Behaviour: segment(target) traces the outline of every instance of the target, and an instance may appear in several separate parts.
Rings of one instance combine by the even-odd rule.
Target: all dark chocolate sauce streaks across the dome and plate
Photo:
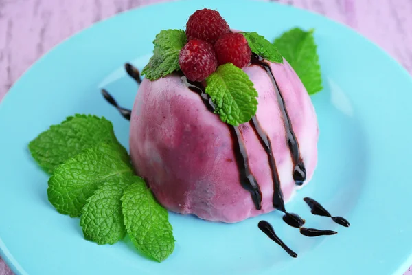
[[[292,162],[294,165],[293,172],[292,172],[293,179],[295,181],[295,184],[301,185],[304,183],[306,179],[306,169],[304,166],[304,162],[300,156],[299,143],[297,141],[295,133],[293,132],[293,128],[290,122],[288,111],[286,110],[286,106],[284,103],[284,98],[279,90],[279,87],[275,80],[275,76],[273,76],[270,65],[268,65],[261,56],[258,56],[257,54],[254,54],[254,53],[251,56],[251,61],[253,65],[259,65],[267,72],[268,76],[270,76],[272,80],[273,87],[275,87],[277,103],[279,104],[279,109],[282,111],[282,118],[284,120],[284,126],[285,126],[285,131],[286,131],[286,142],[288,143],[288,148],[290,150],[290,155],[291,155]],[[137,84],[140,84],[141,76],[140,76],[139,70],[133,67],[133,65],[130,65],[130,63],[126,63],[124,67],[128,75],[132,77],[133,79],[135,79]],[[205,87],[203,87],[201,83],[188,80],[185,76],[182,76],[181,79],[183,80],[183,83],[185,83],[185,85],[191,91],[194,91],[196,94],[198,94],[201,97],[201,100],[203,101],[203,104],[205,104],[205,107],[209,111],[214,113],[214,111],[216,110],[216,107],[214,103],[212,102],[210,96],[206,94]],[[116,109],[122,114],[124,118],[130,120],[130,113],[131,113],[130,110],[119,107],[115,99],[110,94],[108,94],[108,92],[105,89],[102,89],[102,94],[104,98],[107,100],[107,102],[112,104],[114,107],[116,107]],[[285,221],[285,223],[287,223],[288,225],[294,228],[299,228],[300,233],[303,234],[304,236],[313,237],[313,236],[324,236],[324,235],[336,234],[337,232],[334,232],[332,230],[318,230],[314,228],[304,228],[303,227],[305,223],[304,219],[299,217],[298,214],[288,213],[286,211],[286,208],[284,205],[282,188],[281,188],[280,179],[279,179],[279,173],[277,171],[275,157],[272,151],[271,140],[269,139],[268,134],[262,129],[262,126],[260,126],[259,120],[256,116],[253,116],[251,121],[249,121],[249,124],[251,128],[253,129],[253,131],[255,132],[255,135],[258,137],[260,144],[266,151],[266,155],[268,156],[268,163],[271,168],[272,179],[273,179],[273,190],[274,190],[273,200],[272,200],[273,207],[277,210],[284,212],[283,220]],[[242,137],[242,132],[237,126],[232,126],[229,124],[227,124],[227,126],[231,133],[233,153],[235,155],[236,164],[239,170],[240,183],[242,184],[242,187],[245,190],[249,191],[249,193],[251,194],[253,203],[255,204],[255,208],[260,210],[262,208],[262,192],[260,190],[258,181],[255,179],[249,167],[249,158],[247,155],[246,146],[244,144],[244,139]],[[318,214],[321,216],[331,217],[336,223],[339,223],[343,226],[349,226],[349,222],[347,222],[342,217],[332,217],[329,214],[329,212],[325,210],[325,208],[323,208],[319,203],[317,203],[317,201],[314,201],[313,199],[310,199],[310,198],[305,198],[305,201],[306,203],[308,203],[310,208],[312,208],[312,214]],[[290,256],[294,258],[297,257],[297,254],[293,252],[293,250],[290,250],[290,248],[288,248],[288,246],[281,239],[279,239],[279,237],[275,234],[275,230],[273,230],[273,227],[270,223],[268,223],[267,221],[260,221],[258,223],[258,227],[270,239],[275,241],[275,243],[280,245],[286,252],[288,252]]]

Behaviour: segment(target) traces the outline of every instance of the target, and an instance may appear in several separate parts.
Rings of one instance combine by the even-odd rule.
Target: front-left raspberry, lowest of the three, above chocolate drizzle
[[[192,39],[181,50],[179,65],[189,80],[203,81],[216,70],[218,59],[210,43]]]

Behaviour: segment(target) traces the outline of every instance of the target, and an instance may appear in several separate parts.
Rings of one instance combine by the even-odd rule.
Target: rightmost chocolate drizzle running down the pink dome
[[[262,67],[271,78],[273,87],[275,87],[276,97],[277,97],[277,104],[279,104],[279,109],[282,112],[282,118],[284,120],[284,126],[286,131],[286,142],[288,143],[288,147],[290,150],[290,155],[292,157],[293,162],[293,179],[295,180],[295,184],[302,185],[306,179],[306,168],[304,166],[304,162],[301,159],[300,151],[299,151],[299,142],[297,142],[297,138],[295,132],[293,131],[292,122],[290,122],[290,118],[288,115],[288,111],[286,110],[284,98],[282,93],[279,90],[279,86],[277,85],[275,76],[273,76],[271,66],[268,65],[264,61],[261,56],[258,54],[252,53],[251,56],[252,64],[259,65]]]

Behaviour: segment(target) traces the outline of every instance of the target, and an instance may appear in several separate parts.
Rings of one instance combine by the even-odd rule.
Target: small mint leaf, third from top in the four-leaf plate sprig
[[[106,181],[87,199],[82,209],[80,226],[84,239],[99,245],[117,243],[126,236],[122,198],[133,177],[116,177]]]

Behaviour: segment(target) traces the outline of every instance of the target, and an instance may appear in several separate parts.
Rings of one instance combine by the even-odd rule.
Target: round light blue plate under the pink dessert
[[[93,25],[58,45],[12,87],[0,106],[0,249],[17,274],[402,274],[412,263],[412,80],[385,52],[319,15],[274,3],[184,1],[132,10]],[[258,230],[262,217],[227,225],[170,214],[176,249],[163,263],[130,240],[85,241],[79,219],[47,201],[47,175],[27,144],[74,113],[104,115],[127,146],[128,125],[100,95],[106,87],[131,107],[137,85],[122,68],[140,69],[155,35],[184,28],[198,8],[218,9],[232,28],[274,39],[299,26],[315,28],[323,91],[312,97],[319,117],[319,166],[288,209],[308,227],[336,230],[307,238],[264,215],[299,256],[293,259]],[[313,216],[303,197],[346,217],[343,228]]]

